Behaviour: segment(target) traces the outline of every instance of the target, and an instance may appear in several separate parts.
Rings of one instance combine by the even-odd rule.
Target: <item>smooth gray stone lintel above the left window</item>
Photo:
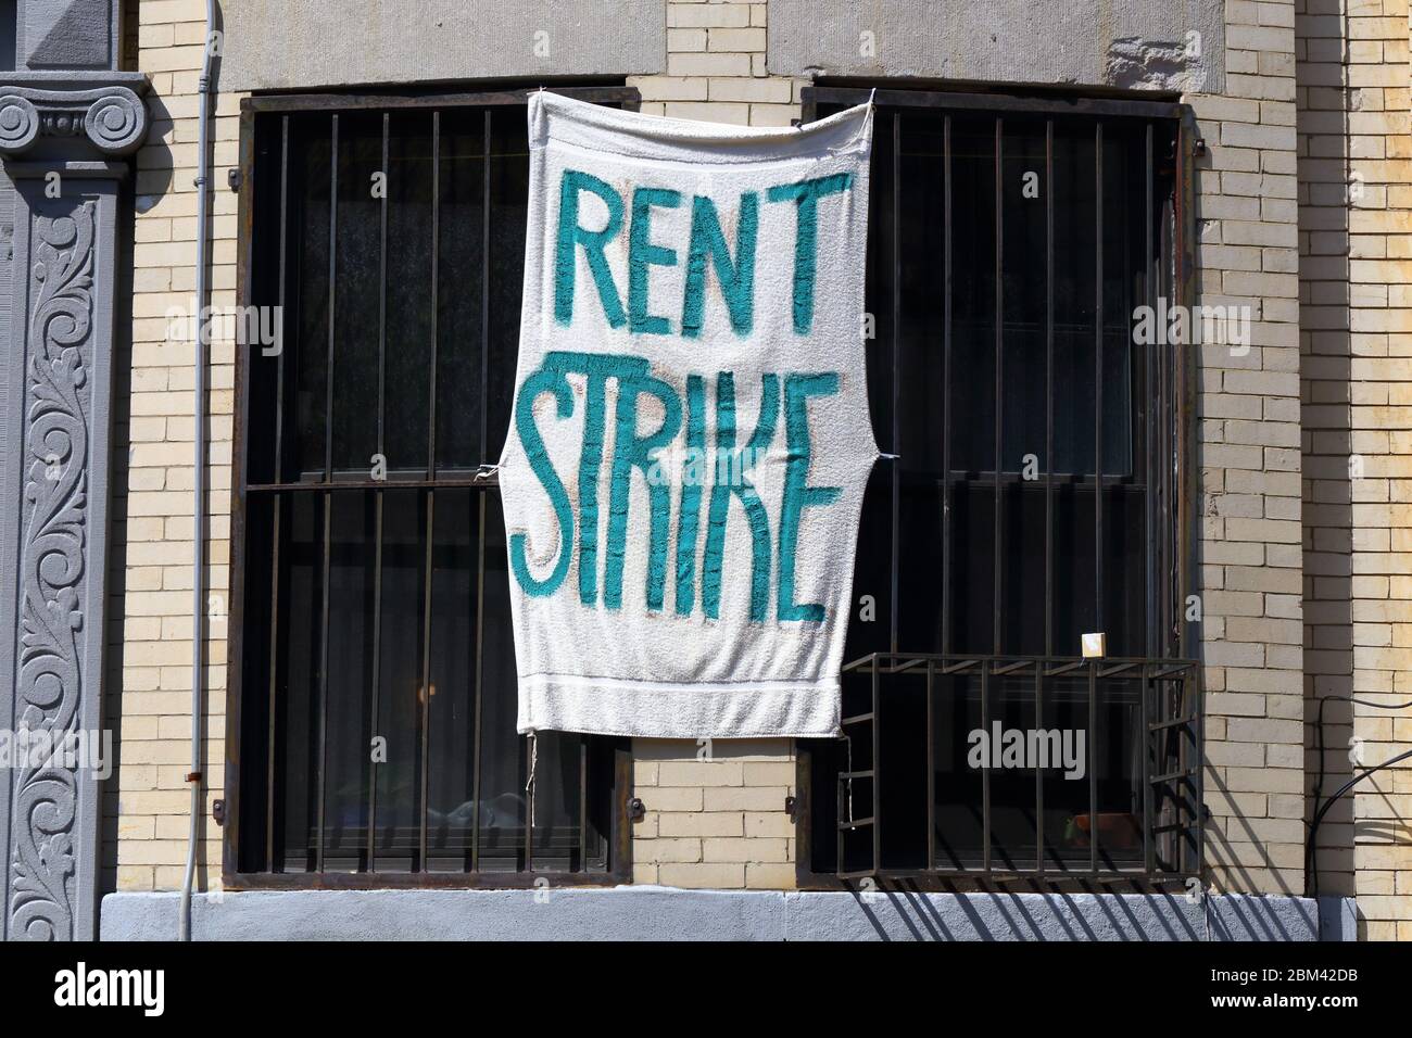
[[[634,75],[666,65],[665,0],[227,0],[222,90]]]

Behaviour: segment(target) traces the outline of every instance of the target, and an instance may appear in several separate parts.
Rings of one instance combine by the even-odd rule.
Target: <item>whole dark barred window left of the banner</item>
[[[527,95],[246,102],[241,302],[282,321],[237,364],[237,884],[627,867],[621,740],[542,733],[531,784],[515,733],[493,462],[518,347]]]

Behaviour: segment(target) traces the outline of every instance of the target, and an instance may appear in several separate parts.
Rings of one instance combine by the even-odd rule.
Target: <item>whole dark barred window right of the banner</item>
[[[806,89],[805,114],[868,95]],[[1190,301],[1190,121],[1165,102],[875,100],[868,391],[890,458],[843,739],[801,754],[806,871],[1195,874],[1193,359],[1134,335],[1139,306]],[[1103,658],[1080,655],[1089,633]],[[967,760],[1008,729],[1082,732],[1082,781]]]

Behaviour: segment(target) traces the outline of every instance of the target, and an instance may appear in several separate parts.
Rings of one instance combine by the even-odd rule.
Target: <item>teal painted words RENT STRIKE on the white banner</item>
[[[575,326],[576,318],[580,325],[602,319],[610,329],[626,329],[631,336],[700,338],[707,312],[707,281],[713,274],[731,335],[750,339],[755,328],[760,209],[761,205],[788,205],[794,206],[795,216],[789,328],[796,336],[809,335],[818,275],[819,206],[832,196],[846,193],[851,179],[849,174],[837,174],[781,184],[762,192],[743,192],[734,210],[736,240],[731,250],[719,208],[710,198],[698,195],[688,201],[678,191],[638,186],[627,201],[606,181],[566,169],[561,179],[554,251],[555,321],[569,328]],[[582,226],[580,199],[585,195],[596,196],[607,210],[607,219],[599,229]],[[655,241],[654,210],[685,206],[690,209],[690,232],[686,241],[679,243],[682,247]],[[609,263],[610,243],[624,233],[624,223],[626,297]],[[592,281],[587,291],[579,278],[580,257]],[[679,306],[674,308],[674,319],[655,312],[657,306],[650,299],[648,268],[675,267],[683,257],[683,290]],[[586,304],[585,297],[596,305]],[[582,604],[621,609],[623,569],[634,507],[630,490],[635,472],[647,484],[650,515],[644,603],[650,612],[671,607],[678,616],[689,616],[699,610],[709,619],[719,619],[722,585],[729,579],[724,572],[726,528],[731,521],[744,521],[751,545],[751,621],[822,621],[822,604],[796,602],[795,558],[805,511],[829,507],[843,493],[840,487],[810,486],[808,482],[809,460],[815,452],[809,435],[809,402],[836,395],[839,374],[820,370],[767,371],[751,376],[751,381],[757,377],[758,386],[750,387],[750,395],[754,398],[758,388],[760,404],[747,438],[740,429],[736,407],[737,390],[744,387],[737,386],[731,370],[690,373],[678,387],[658,377],[647,356],[573,350],[546,353],[518,388],[515,432],[530,469],[554,510],[558,549],[552,562],[541,559],[539,565],[534,565],[527,535],[511,535],[510,565],[520,586],[537,597],[555,595],[568,578],[576,554]],[[610,386],[616,394],[611,415]],[[554,410],[551,414],[541,410],[537,418],[535,401],[545,395],[552,397]],[[644,407],[644,401],[651,402]],[[640,418],[647,414],[659,414],[661,421],[655,429],[642,434]],[[566,483],[549,456],[539,424],[570,418],[582,421],[583,439],[576,476]],[[607,449],[610,422],[611,451]],[[659,479],[658,455],[675,455],[682,449],[696,456],[713,451],[717,472],[746,473],[747,477],[717,477],[710,486],[692,477],[671,482],[678,494],[674,508],[674,486]],[[782,458],[784,484],[778,500],[762,501],[748,472],[757,460],[770,458]],[[604,466],[609,489],[606,500],[602,500]],[[575,490],[572,494],[570,486]],[[740,506],[734,514],[733,501]],[[634,545],[634,549],[640,547]],[[668,575],[674,592],[671,603],[666,599]],[[775,600],[772,617],[771,592]]]

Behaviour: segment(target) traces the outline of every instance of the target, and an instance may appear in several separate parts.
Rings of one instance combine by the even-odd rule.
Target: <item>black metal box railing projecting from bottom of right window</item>
[[[1204,840],[1203,780],[1202,780],[1202,695],[1200,665],[1190,660],[1107,658],[1079,660],[1062,657],[994,657],[994,655],[926,655],[874,652],[843,667],[850,675],[871,682],[871,706],[864,713],[844,716],[843,739],[849,760],[863,758],[866,767],[840,771],[837,777],[837,877],[971,877],[971,878],[1144,878],[1172,880],[1199,876]],[[1045,836],[1045,784],[1035,768],[1034,846],[1032,867],[1003,863],[997,867],[993,846],[994,805],[991,802],[991,771],[980,768],[981,780],[981,846],[974,867],[942,867],[938,849],[938,763],[936,763],[936,703],[940,686],[967,679],[979,686],[981,727],[994,719],[997,679],[1011,686],[1027,682],[1032,689],[1036,724],[1045,716],[1045,693],[1065,684],[1080,689],[1087,713],[1087,818],[1079,816],[1079,828],[1087,829],[1087,860],[1082,856],[1059,854]],[[882,802],[882,772],[885,751],[882,726],[887,723],[887,698],[899,682],[926,682],[926,867],[887,869],[884,866],[882,821],[890,815]],[[1100,856],[1100,819],[1104,818],[1099,798],[1099,709],[1104,684],[1124,682],[1138,686],[1139,746],[1131,747],[1141,757],[1139,822],[1141,857],[1113,861]],[[912,686],[915,688],[915,685]],[[1073,696],[1070,695],[1070,699]],[[861,794],[861,795],[860,795]],[[866,805],[866,806],[861,806]],[[866,813],[863,813],[866,812]],[[895,818],[895,815],[892,815]],[[909,819],[912,821],[912,819]],[[921,819],[916,819],[921,821]],[[846,853],[850,833],[871,836],[871,847],[864,867],[850,867],[857,860]],[[856,847],[853,849],[856,850]]]

